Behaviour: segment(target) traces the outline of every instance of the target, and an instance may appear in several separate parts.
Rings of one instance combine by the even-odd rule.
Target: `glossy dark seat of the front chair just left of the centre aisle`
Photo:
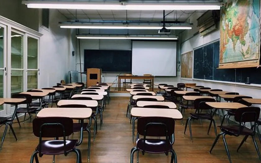
[[[65,151],[70,152],[76,147],[77,140],[66,140]],[[41,153],[45,155],[57,155],[64,153],[63,140],[43,140],[41,142]],[[36,151],[39,152],[39,145]]]

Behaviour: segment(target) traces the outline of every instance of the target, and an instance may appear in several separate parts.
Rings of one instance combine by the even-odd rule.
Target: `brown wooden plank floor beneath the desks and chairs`
[[[104,122],[101,130],[98,130],[96,141],[91,142],[91,163],[128,163],[130,162],[130,151],[134,147],[131,141],[131,124],[126,118],[126,106],[128,104],[126,97],[112,97],[109,105],[104,110]],[[188,117],[188,112],[185,115]],[[185,121],[185,120],[184,120]],[[217,125],[219,120],[216,118]],[[194,142],[190,142],[189,130],[186,135],[183,134],[184,126],[181,121],[176,121],[175,125],[175,143],[173,145],[177,154],[179,163],[227,163],[227,154],[225,152],[222,138],[219,139],[212,154],[208,151],[215,139],[214,129],[212,127],[210,134],[207,135],[208,122],[204,121],[201,127],[198,121],[192,122],[192,132]],[[26,121],[22,123],[21,128],[18,124],[13,125],[18,141],[16,142],[13,135],[7,133],[2,150],[0,151],[0,163],[28,163],[34,148],[37,146],[39,139],[32,133],[32,123]],[[4,127],[0,128],[2,137]],[[218,132],[220,130],[218,129]],[[79,134],[74,134],[71,138],[78,138]],[[93,137],[93,129],[92,129]],[[251,138],[247,139],[241,147],[240,152],[236,149],[243,137],[227,136],[227,143],[233,163],[255,163],[260,162],[255,151],[254,144]],[[259,149],[261,144],[257,139]],[[88,134],[85,133],[84,142],[79,146],[82,153],[82,162],[87,162],[87,144]],[[136,158],[136,157],[135,157]],[[134,159],[135,159],[134,158]],[[52,156],[43,156],[39,159],[40,163],[51,163]],[[74,163],[76,162],[75,153],[70,153],[68,156],[60,155],[56,157],[56,162],[59,163]],[[148,154],[144,156],[140,154],[140,163],[169,163],[170,155],[165,154]]]

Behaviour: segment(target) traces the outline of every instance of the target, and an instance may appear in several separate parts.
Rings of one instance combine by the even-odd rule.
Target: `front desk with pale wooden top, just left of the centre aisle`
[[[37,117],[69,117],[72,119],[80,120],[81,130],[80,130],[80,141],[77,142],[79,146],[83,141],[83,122],[92,115],[92,109],[90,108],[43,108],[37,114]],[[89,133],[88,141],[88,161],[90,161],[90,147],[91,147],[91,135],[90,130],[87,129]]]

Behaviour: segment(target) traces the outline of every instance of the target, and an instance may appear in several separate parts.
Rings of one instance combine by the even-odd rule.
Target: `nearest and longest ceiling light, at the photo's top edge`
[[[85,10],[220,10],[222,4],[215,1],[201,2],[113,2],[113,1],[22,1],[28,8],[85,9]]]

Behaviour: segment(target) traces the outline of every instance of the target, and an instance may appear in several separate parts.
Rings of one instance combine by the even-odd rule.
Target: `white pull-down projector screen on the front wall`
[[[177,42],[132,41],[132,74],[176,76]]]

